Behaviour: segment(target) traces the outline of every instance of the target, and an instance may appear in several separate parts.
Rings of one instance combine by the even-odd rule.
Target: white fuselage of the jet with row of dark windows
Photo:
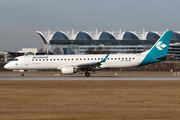
[[[6,64],[6,69],[12,70],[40,70],[58,69],[63,66],[76,67],[78,64],[99,62],[106,54],[96,55],[29,55],[17,57],[17,60]],[[138,66],[143,60],[142,54],[110,54],[106,62],[102,63],[103,68],[129,68]]]

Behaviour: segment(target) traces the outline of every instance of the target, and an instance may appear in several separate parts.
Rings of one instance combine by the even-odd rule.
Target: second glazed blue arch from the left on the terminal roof
[[[92,37],[87,32],[79,32],[75,38],[75,40],[92,40]]]

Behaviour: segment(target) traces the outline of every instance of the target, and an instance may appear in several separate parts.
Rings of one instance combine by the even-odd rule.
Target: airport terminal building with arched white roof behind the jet
[[[141,53],[164,33],[158,31],[36,31],[52,54]],[[180,60],[180,31],[173,31],[169,54]]]

